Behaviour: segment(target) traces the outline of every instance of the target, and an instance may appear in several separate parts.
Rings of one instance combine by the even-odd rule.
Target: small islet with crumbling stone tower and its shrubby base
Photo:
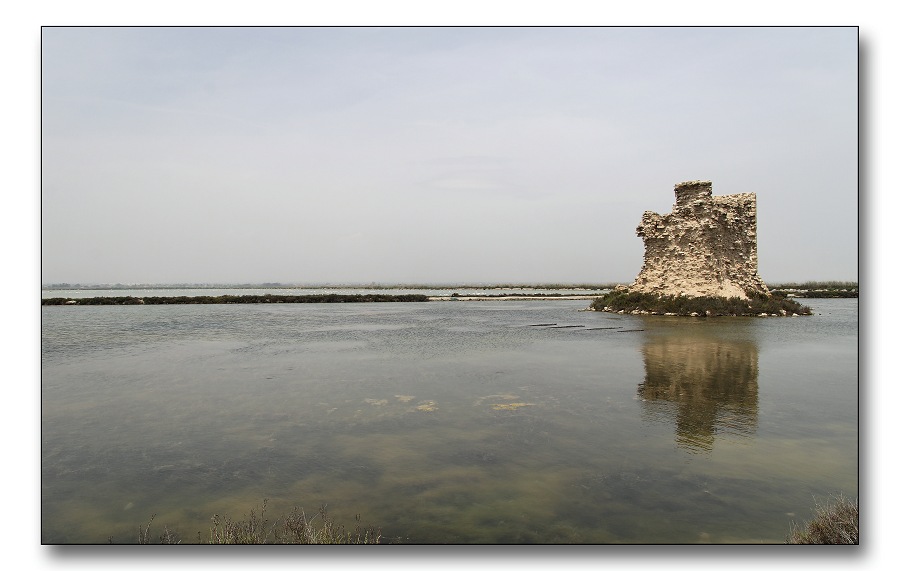
[[[634,283],[591,304],[594,311],[681,316],[800,316],[812,310],[759,277],[756,194],[712,195],[712,182],[675,185],[669,214],[644,212],[637,227],[644,265]]]

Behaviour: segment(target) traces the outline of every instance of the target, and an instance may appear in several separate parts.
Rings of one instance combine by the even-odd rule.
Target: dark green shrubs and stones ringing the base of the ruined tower
[[[755,315],[812,315],[809,307],[778,294],[738,297],[689,297],[684,295],[656,295],[651,293],[612,291],[591,303],[595,311],[643,312],[654,315],[681,316],[755,316]]]

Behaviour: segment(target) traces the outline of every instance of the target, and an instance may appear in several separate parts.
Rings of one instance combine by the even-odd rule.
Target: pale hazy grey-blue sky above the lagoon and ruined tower
[[[42,283],[629,282],[673,186],[858,279],[855,28],[44,28]]]

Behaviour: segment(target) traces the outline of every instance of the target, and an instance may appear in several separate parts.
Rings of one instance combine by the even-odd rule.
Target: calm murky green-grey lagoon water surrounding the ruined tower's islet
[[[858,493],[858,301],[804,302],[42,307],[41,540],[268,498],[403,543],[779,543]]]

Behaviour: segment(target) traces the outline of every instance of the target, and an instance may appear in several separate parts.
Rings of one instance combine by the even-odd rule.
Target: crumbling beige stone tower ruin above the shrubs
[[[629,290],[748,298],[768,294],[757,273],[756,194],[713,196],[710,181],[675,185],[669,214],[644,212],[644,266]]]

